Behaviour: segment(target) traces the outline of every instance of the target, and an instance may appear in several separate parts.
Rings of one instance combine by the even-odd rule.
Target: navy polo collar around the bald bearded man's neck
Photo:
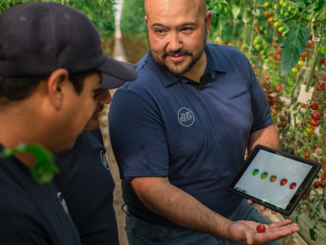
[[[207,43],[205,46],[205,52],[207,55],[206,70],[210,72],[210,75],[213,79],[215,77],[215,72],[226,72],[225,67],[223,65],[223,61],[218,60],[218,57],[213,55],[212,48],[210,48],[210,45],[207,45]],[[157,64],[157,62],[154,60],[150,51],[148,51],[147,60],[157,71],[160,79],[162,80],[164,87],[172,85],[174,82],[178,82],[178,81],[188,82],[188,80],[186,80],[184,77],[181,77],[179,75],[172,75],[167,70],[164,70],[164,68],[161,67],[159,64]]]

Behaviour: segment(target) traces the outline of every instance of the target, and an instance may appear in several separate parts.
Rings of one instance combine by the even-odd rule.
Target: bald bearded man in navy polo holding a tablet
[[[206,1],[147,0],[145,10],[150,52],[109,114],[129,243],[280,244],[297,224],[270,224],[225,190],[246,147],[279,146],[249,61],[206,43]]]

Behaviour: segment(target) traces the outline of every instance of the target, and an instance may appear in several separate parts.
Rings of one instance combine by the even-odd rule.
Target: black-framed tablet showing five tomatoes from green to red
[[[320,170],[320,163],[257,145],[227,191],[290,215]]]

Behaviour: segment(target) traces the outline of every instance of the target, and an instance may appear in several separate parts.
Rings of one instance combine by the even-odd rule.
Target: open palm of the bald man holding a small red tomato
[[[227,232],[240,244],[259,245],[281,239],[300,230],[298,224],[291,224],[290,219],[275,224],[264,224],[266,231],[262,233],[257,232],[258,225],[257,222],[240,220],[230,224]]]

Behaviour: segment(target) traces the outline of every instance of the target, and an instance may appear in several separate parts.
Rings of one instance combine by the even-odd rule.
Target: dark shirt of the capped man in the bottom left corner
[[[81,244],[55,183],[35,183],[15,157],[0,158],[0,244]]]

